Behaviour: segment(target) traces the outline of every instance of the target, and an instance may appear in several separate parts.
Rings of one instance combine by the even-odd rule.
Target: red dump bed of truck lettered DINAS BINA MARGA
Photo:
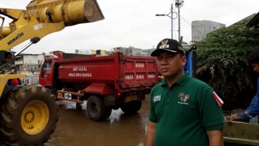
[[[114,85],[116,90],[151,88],[158,83],[156,58],[115,55],[58,61],[58,79],[64,83]]]

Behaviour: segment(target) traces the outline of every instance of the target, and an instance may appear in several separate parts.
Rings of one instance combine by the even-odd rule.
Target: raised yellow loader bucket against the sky
[[[27,12],[39,22],[65,22],[66,26],[103,20],[96,0],[34,0]]]

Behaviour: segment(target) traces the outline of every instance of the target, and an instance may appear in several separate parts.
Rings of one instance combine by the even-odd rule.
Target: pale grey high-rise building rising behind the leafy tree
[[[221,27],[226,27],[226,25],[209,20],[193,21],[191,22],[191,40],[201,41],[206,38],[206,34],[213,32],[216,29],[220,29]]]

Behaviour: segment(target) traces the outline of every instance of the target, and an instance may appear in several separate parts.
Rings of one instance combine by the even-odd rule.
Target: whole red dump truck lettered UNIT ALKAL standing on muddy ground
[[[108,118],[112,109],[137,112],[145,94],[159,81],[153,57],[53,54],[44,62],[39,84],[56,93],[58,100],[77,105],[87,100],[87,114],[94,121]]]

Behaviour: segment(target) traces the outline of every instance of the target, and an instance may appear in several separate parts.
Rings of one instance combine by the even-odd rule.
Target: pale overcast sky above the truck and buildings
[[[158,42],[171,37],[171,18],[156,14],[173,11],[175,0],[97,0],[104,20],[65,27],[61,32],[45,36],[24,53],[49,51],[107,50],[114,47],[156,48]],[[26,9],[30,0],[0,0],[0,8]],[[212,20],[232,25],[248,15],[259,12],[258,0],[184,0],[180,8],[183,41],[191,41],[191,22]],[[178,40],[178,18],[173,20],[173,38]],[[7,26],[8,23],[5,23]],[[20,51],[25,44],[13,48]]]

